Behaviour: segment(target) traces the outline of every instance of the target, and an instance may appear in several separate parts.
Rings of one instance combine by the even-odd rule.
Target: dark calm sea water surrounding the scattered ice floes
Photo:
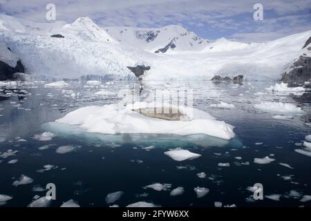
[[[60,206],[70,199],[80,206],[109,206],[112,204],[106,204],[106,195],[115,191],[124,192],[120,200],[113,203],[119,206],[139,201],[160,206],[214,206],[214,202],[236,206],[311,206],[311,201],[299,201],[303,195],[311,195],[311,157],[294,152],[294,149],[302,148],[295,143],[303,142],[305,135],[311,134],[311,127],[305,124],[310,116],[310,100],[301,102],[304,98],[301,95],[254,95],[257,92],[266,93],[265,88],[272,84],[275,83],[252,82],[236,86],[214,85],[209,81],[180,81],[164,85],[147,82],[144,85],[144,88],[194,89],[196,108],[236,127],[236,137],[231,141],[204,135],[100,135],[73,131],[70,127],[57,131],[53,124],[46,123],[82,106],[111,104],[119,99],[115,96],[95,96],[98,88],[84,88],[83,84],[73,82],[66,89],[73,91],[44,88],[44,84],[39,83],[18,87],[26,91],[3,88],[0,99],[0,153],[8,149],[18,152],[0,158],[0,194],[12,196],[12,200],[2,203],[2,206],[28,206],[35,195],[42,197],[46,193],[32,191],[32,188],[45,188],[48,183],[54,183],[57,187],[57,199],[50,206]],[[133,88],[133,83],[117,82],[104,89],[117,91],[127,86]],[[71,96],[72,93],[80,95]],[[220,101],[234,104],[236,108],[209,106]],[[294,103],[301,106],[305,114],[289,120],[272,119],[276,113],[253,108],[254,104],[265,101]],[[32,138],[45,131],[51,131],[57,137],[46,142]],[[48,144],[50,148],[38,149]],[[64,145],[72,145],[76,149],[66,154],[55,153],[59,146]],[[143,149],[150,145],[155,148],[150,151]],[[164,155],[169,148],[176,147],[202,156],[177,162]],[[274,162],[254,164],[255,157],[269,155],[275,159]],[[235,157],[242,159],[236,160]],[[18,162],[8,164],[10,160]],[[229,163],[230,166],[220,167],[218,163]],[[294,169],[279,163],[290,164]],[[38,172],[47,164],[55,167]],[[184,169],[178,169],[178,166],[184,166]],[[207,176],[199,178],[196,174],[200,172],[205,172]],[[21,174],[31,177],[33,182],[13,186],[12,182],[18,180]],[[284,180],[282,176],[290,176],[290,180]],[[185,193],[172,197],[169,190],[143,188],[153,183],[171,184],[171,190],[182,186]],[[252,199],[253,195],[247,187],[256,183],[263,184],[264,195],[280,194],[280,200],[247,200],[249,197]],[[197,198],[194,192],[197,186],[208,188],[209,193]],[[142,193],[147,194],[142,196]],[[293,193],[298,195],[295,197]]]

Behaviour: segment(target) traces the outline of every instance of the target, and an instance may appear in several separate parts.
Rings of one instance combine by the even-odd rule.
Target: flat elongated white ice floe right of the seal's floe
[[[282,103],[282,102],[263,102],[261,104],[255,104],[254,108],[260,109],[263,111],[272,111],[272,112],[279,112],[279,113],[292,113],[292,114],[303,113],[301,108],[297,107],[296,105]]]

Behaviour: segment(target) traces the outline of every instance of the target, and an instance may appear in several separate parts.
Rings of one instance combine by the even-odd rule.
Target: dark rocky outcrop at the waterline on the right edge
[[[291,70],[283,73],[281,81],[290,86],[294,83],[303,84],[305,81],[311,81],[311,57],[300,56],[294,61]]]

